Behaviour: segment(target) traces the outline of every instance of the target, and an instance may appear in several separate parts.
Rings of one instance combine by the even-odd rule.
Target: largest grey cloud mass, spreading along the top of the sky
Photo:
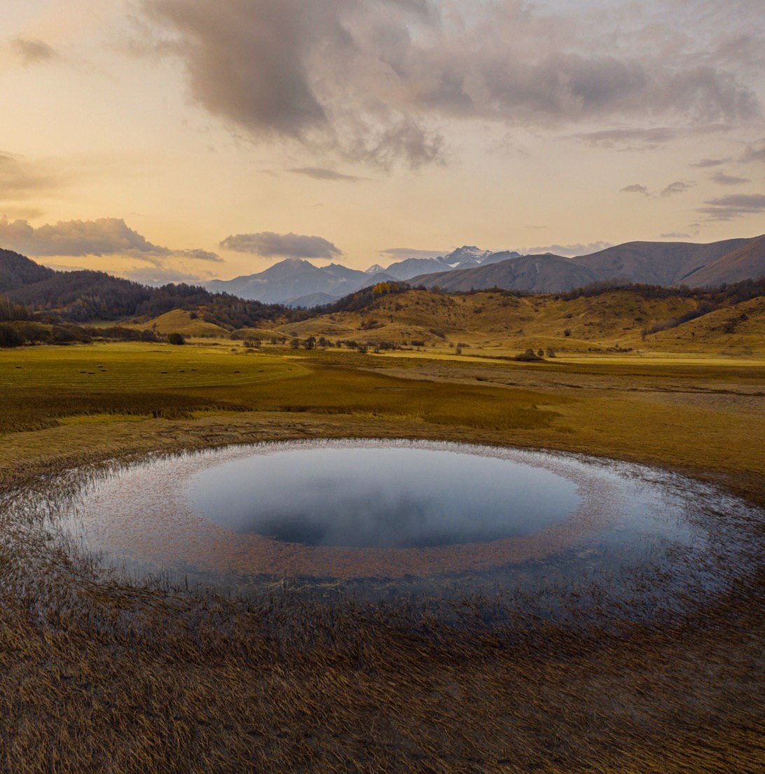
[[[443,162],[444,126],[455,121],[611,123],[618,128],[579,136],[656,146],[761,114],[751,65],[759,41],[732,6],[715,9],[715,25],[661,8],[627,15],[523,0],[143,8],[156,37],[143,48],[176,57],[194,101],[235,131],[383,167]]]

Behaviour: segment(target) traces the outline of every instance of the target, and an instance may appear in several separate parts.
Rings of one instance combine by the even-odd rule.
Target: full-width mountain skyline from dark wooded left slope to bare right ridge
[[[763,276],[765,235],[707,245],[628,242],[576,258],[492,253],[465,246],[440,258],[411,258],[383,270],[372,266],[366,272],[336,263],[320,268],[301,259],[286,259],[258,274],[213,281],[207,289],[149,288],[105,272],[54,271],[0,249],[0,294],[5,299],[79,321],[116,320],[195,303],[214,306],[232,324],[242,314],[248,320],[284,315],[284,306],[293,307],[300,316],[304,312],[297,307],[324,307],[391,282],[447,293],[492,288],[565,293],[593,283],[707,288]]]

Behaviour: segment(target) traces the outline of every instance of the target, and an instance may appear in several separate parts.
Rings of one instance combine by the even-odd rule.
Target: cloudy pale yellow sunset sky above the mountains
[[[765,232],[761,0],[4,0],[0,247],[146,283]]]

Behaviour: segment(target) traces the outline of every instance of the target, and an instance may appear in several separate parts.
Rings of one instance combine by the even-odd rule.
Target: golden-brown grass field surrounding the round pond
[[[451,315],[457,331],[479,303],[464,298],[428,315],[443,327]],[[765,507],[760,328],[732,344],[700,318],[693,338],[708,337],[706,349],[676,346],[668,330],[642,357],[572,348],[519,363],[501,356],[565,342],[552,312],[538,330],[517,313],[510,327],[527,331],[517,346],[490,348],[489,331],[459,356],[437,336],[437,348],[391,354],[207,339],[0,351],[0,769],[763,770],[761,573],[660,627],[492,628],[496,601],[475,599],[454,626],[427,604],[132,587],[11,508],[20,488],[27,498],[65,489],[52,476],[70,467],[312,437],[577,451],[679,471]],[[331,337],[351,337],[342,331],[358,320],[335,317],[322,323],[338,326]],[[606,344],[633,341],[602,320]],[[406,339],[424,335],[422,322],[395,325]],[[309,323],[321,334],[306,321],[294,324],[301,337]],[[568,341],[580,329],[566,323]]]

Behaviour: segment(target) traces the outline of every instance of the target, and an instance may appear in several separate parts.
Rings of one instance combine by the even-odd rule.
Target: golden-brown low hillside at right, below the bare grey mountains
[[[528,347],[586,351],[617,346],[667,351],[732,351],[738,347],[742,354],[765,351],[762,298],[676,323],[678,318],[695,313],[701,303],[679,293],[652,298],[630,289],[574,299],[496,292],[450,296],[410,290],[382,296],[361,312],[330,313],[279,330],[333,341],[391,341],[409,346],[424,342],[428,347],[468,344],[503,351]],[[742,315],[746,315],[745,320]]]

